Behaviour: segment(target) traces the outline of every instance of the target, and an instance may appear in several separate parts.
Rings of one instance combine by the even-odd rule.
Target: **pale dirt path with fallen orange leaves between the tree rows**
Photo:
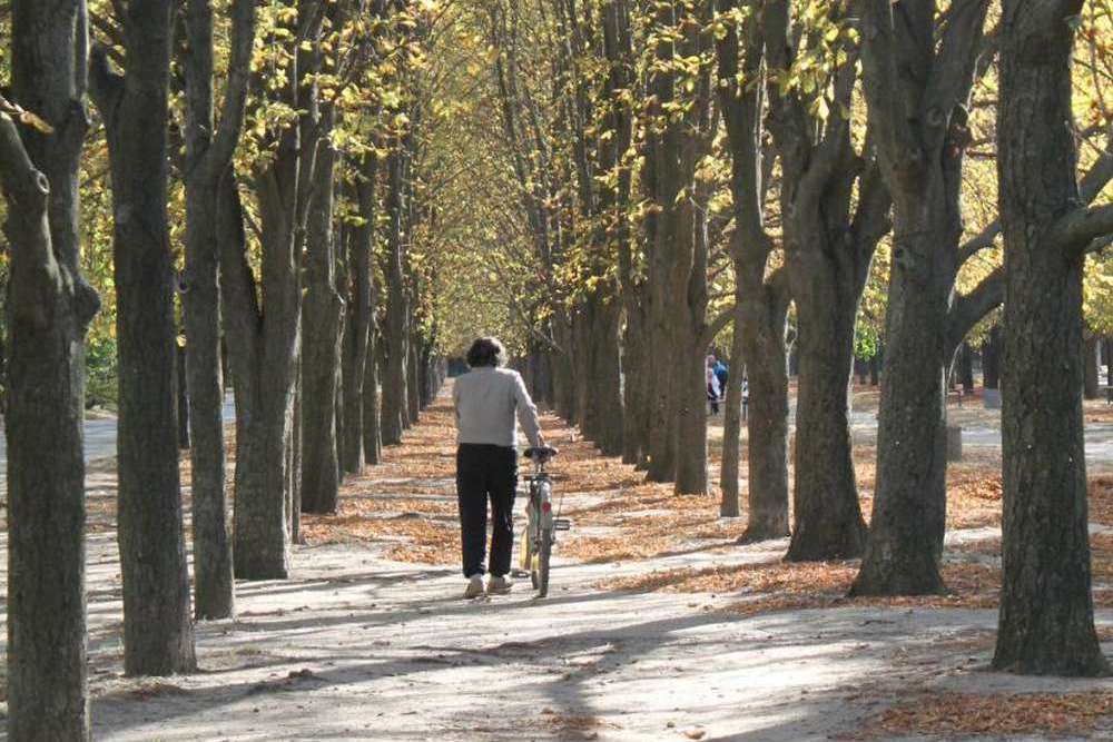
[[[742,521],[718,518],[712,499],[642,484],[548,418],[575,523],[552,593],[520,584],[465,602],[450,422],[442,402],[346,485],[339,514],[306,518],[293,580],[239,584],[237,620],[197,629],[196,675],[121,676],[115,532],[98,509],[96,738],[1113,739],[1113,683],[985,670],[999,533],[985,471],[953,475],[954,595],[851,603],[853,564],[787,566],[785,542],[736,546]],[[1094,508],[1100,580],[1113,575],[1107,484]],[[91,486],[105,498],[110,477]],[[1113,639],[1113,609],[1099,617]]]

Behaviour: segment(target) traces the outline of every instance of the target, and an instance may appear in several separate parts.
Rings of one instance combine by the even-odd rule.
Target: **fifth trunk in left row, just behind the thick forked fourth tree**
[[[336,369],[341,365],[341,313],[333,233],[336,150],[329,141],[335,112],[322,115],[309,207],[304,273],[302,355],[302,508],[335,513],[339,497],[336,442]]]

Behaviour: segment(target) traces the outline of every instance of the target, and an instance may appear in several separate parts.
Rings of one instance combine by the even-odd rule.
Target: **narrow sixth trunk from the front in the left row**
[[[364,466],[364,388],[367,375],[367,345],[374,324],[371,304],[371,255],[375,244],[375,181],[378,158],[365,155],[358,161],[355,185],[361,224],[351,228],[347,240],[348,299],[344,333],[344,469],[353,474]],[[374,363],[372,363],[374,365]]]

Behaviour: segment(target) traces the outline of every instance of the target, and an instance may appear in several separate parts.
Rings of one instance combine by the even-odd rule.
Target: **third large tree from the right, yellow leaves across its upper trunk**
[[[762,17],[800,362],[788,558],[847,558],[861,553],[866,535],[848,403],[855,328],[874,250],[889,228],[889,199],[870,138],[855,151],[853,122],[843,113],[850,110],[857,77],[846,3],[810,19],[795,6],[778,0]],[[834,112],[826,120],[812,116],[828,97]]]

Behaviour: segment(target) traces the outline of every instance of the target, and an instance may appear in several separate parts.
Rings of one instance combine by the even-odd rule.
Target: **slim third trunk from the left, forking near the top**
[[[232,58],[218,127],[213,105],[213,3],[186,6],[186,386],[193,438],[194,611],[198,619],[235,613],[232,533],[225,496],[224,384],[220,366],[217,188],[232,167],[247,107],[255,2],[233,7]],[[214,128],[216,128],[214,133]]]

